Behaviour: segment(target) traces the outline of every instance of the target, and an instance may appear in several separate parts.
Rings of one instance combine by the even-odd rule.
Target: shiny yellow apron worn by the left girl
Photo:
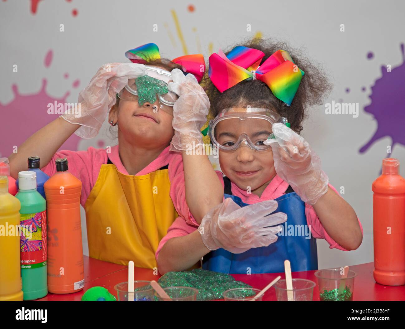
[[[132,176],[120,173],[110,161],[102,164],[84,205],[90,257],[157,267],[158,244],[178,216],[164,168]]]

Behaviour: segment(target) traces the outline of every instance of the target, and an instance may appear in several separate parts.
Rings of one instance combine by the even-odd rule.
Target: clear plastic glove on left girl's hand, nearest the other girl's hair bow
[[[184,75],[178,68],[172,71],[173,82],[168,90],[179,95],[173,107],[173,129],[175,135],[170,144],[171,151],[192,150],[203,145],[201,127],[207,122],[209,100],[203,87],[192,74]]]

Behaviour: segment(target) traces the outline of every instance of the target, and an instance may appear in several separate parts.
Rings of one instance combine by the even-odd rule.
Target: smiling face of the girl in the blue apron
[[[249,136],[254,145],[263,145],[271,134],[271,123],[263,119],[229,119],[215,127],[215,138],[221,145],[234,145],[242,134]],[[233,151],[220,149],[219,161],[223,173],[234,184],[259,196],[276,175],[271,147],[258,151],[241,143]]]

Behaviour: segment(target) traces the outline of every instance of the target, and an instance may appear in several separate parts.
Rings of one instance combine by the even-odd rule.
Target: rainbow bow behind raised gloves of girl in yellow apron
[[[159,48],[154,43],[147,43],[140,47],[128,50],[125,56],[132,63],[146,63],[160,59]],[[201,81],[205,72],[205,61],[202,54],[180,56],[172,60],[173,63],[179,64],[183,72],[192,73],[198,80]]]

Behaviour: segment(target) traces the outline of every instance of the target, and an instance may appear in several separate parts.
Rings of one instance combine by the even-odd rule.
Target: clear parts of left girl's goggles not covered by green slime
[[[172,75],[169,71],[166,71],[162,68],[158,68],[155,66],[146,66],[145,67],[146,75],[149,77],[164,81],[167,83],[172,80]],[[177,94],[168,90],[165,94],[157,93],[159,98],[160,105],[166,105],[169,107],[173,107],[175,105],[175,101],[179,98]],[[138,101],[138,88],[135,83],[135,79],[129,79],[128,84],[118,93],[118,98],[127,101]]]

